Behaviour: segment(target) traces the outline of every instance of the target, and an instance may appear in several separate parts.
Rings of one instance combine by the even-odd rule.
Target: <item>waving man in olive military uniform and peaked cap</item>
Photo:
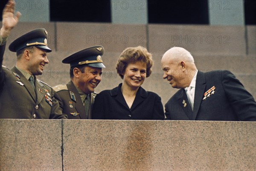
[[[3,10],[0,30],[0,119],[67,119],[62,114],[54,90],[35,75],[41,75],[49,63],[47,31],[35,29],[13,41],[9,50],[17,53],[16,65],[2,67],[6,39],[17,24],[20,13],[14,15],[15,3],[9,0]]]

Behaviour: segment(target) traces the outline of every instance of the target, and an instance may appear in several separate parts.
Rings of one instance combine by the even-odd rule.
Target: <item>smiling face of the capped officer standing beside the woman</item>
[[[74,68],[74,72],[74,77],[76,77],[74,84],[85,94],[93,93],[101,81],[102,68],[86,66],[83,72],[78,68]]]

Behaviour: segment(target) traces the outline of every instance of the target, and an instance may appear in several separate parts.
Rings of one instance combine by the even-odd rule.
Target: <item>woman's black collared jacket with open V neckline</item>
[[[163,104],[156,93],[140,87],[130,109],[122,95],[121,86],[119,84],[118,87],[104,90],[96,96],[93,119],[164,119]]]

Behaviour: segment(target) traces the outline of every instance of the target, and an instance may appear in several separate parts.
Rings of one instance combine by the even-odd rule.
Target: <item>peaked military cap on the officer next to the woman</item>
[[[70,64],[70,67],[87,64],[90,67],[105,68],[102,61],[103,53],[103,46],[92,46],[68,56],[62,63]]]

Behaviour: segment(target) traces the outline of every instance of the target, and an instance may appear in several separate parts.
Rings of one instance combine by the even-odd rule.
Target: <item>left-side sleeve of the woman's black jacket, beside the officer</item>
[[[94,99],[92,119],[105,119],[104,105],[104,96],[99,93]]]

